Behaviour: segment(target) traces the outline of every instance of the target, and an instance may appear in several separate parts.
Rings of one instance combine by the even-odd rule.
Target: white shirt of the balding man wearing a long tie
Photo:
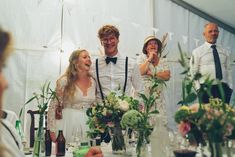
[[[201,73],[203,77],[196,83],[196,88],[199,89],[200,83],[204,83],[209,76],[210,79],[216,79],[214,57],[210,43],[205,42],[200,47],[192,52],[190,59],[190,73],[194,76],[197,72]],[[219,54],[221,69],[223,74],[222,82],[225,82],[232,89],[232,76],[229,53],[221,46],[216,45]]]

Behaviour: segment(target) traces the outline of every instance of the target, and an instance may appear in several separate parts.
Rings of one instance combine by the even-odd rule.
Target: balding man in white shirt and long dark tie
[[[208,23],[204,26],[205,43],[192,52],[190,72],[192,76],[200,73],[202,77],[196,81],[196,89],[201,103],[208,103],[210,95],[229,103],[232,95],[232,77],[229,63],[229,53],[216,44],[219,36],[218,26]],[[213,80],[211,89],[205,80]],[[220,86],[221,85],[221,86]],[[222,87],[222,91],[220,87]]]

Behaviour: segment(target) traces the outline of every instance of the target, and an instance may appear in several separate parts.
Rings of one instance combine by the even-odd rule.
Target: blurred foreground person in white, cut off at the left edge
[[[11,36],[0,28],[0,156],[23,157],[23,146],[15,127],[2,114],[2,97],[7,89],[7,80],[2,70],[9,55]]]

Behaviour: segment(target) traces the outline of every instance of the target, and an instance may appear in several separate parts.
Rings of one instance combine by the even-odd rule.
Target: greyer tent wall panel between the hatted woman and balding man
[[[181,81],[182,76],[180,73],[182,69],[178,64],[179,50],[178,43],[185,52],[191,54],[192,50],[197,46],[204,43],[203,28],[208,21],[191,13],[190,11],[176,5],[170,0],[157,0],[155,1],[155,27],[158,28],[160,36],[165,32],[169,32],[170,38],[168,41],[167,49],[171,69],[171,79],[167,84],[167,110],[169,125],[174,127],[174,113],[178,106],[176,105],[181,100]],[[220,35],[217,43],[223,45],[231,52],[231,62],[234,60],[235,52],[235,35],[219,28]],[[235,69],[233,67],[233,76],[235,76]],[[234,77],[233,77],[234,78]],[[235,80],[233,80],[235,84]],[[233,85],[234,87],[234,85]]]

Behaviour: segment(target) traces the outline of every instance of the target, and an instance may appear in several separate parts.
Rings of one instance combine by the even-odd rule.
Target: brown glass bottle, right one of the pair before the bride
[[[65,156],[65,138],[62,130],[59,130],[56,143],[57,143],[56,156]]]

